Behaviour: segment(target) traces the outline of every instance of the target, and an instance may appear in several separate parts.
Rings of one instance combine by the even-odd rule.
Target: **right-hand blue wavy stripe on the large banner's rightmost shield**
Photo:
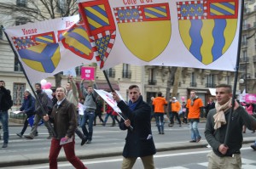
[[[225,45],[224,30],[227,25],[226,20],[214,20],[215,26],[212,31],[214,44],[212,47],[213,61],[222,56],[222,50]]]

